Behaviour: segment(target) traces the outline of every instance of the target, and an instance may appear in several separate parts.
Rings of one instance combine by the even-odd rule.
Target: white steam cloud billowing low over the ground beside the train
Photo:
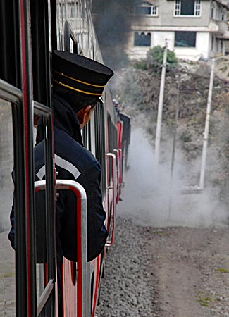
[[[216,187],[203,192],[181,192],[184,179],[190,179],[188,173],[197,173],[199,161],[191,169],[187,168],[177,152],[171,186],[171,161],[167,159],[156,170],[153,147],[143,130],[136,128],[132,131],[129,162],[130,170],[125,175],[126,185],[121,195],[123,201],[118,204],[120,216],[153,227],[228,224],[227,211],[218,200]]]

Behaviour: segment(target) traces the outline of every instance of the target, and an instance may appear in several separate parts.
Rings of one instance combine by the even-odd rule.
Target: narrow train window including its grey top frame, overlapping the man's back
[[[54,192],[54,180],[51,110],[42,104],[34,104],[36,114],[34,120],[34,152],[35,158],[39,156],[39,160],[35,159],[35,255],[37,303],[39,307],[40,298],[42,297],[45,287],[47,287],[49,280],[54,278],[54,197],[53,194],[51,194]],[[40,149],[44,149],[44,151]],[[44,185],[42,185],[42,181]],[[43,309],[45,310],[45,316],[49,316],[49,309],[51,309],[51,306],[49,302],[47,302]]]

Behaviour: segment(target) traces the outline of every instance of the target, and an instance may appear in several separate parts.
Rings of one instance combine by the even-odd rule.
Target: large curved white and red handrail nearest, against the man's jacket
[[[45,180],[35,182],[36,191],[45,189]],[[89,301],[89,270],[87,263],[87,196],[85,189],[73,180],[56,180],[57,189],[70,189],[77,197],[77,256],[78,256],[78,282],[77,282],[77,316],[90,317]]]

